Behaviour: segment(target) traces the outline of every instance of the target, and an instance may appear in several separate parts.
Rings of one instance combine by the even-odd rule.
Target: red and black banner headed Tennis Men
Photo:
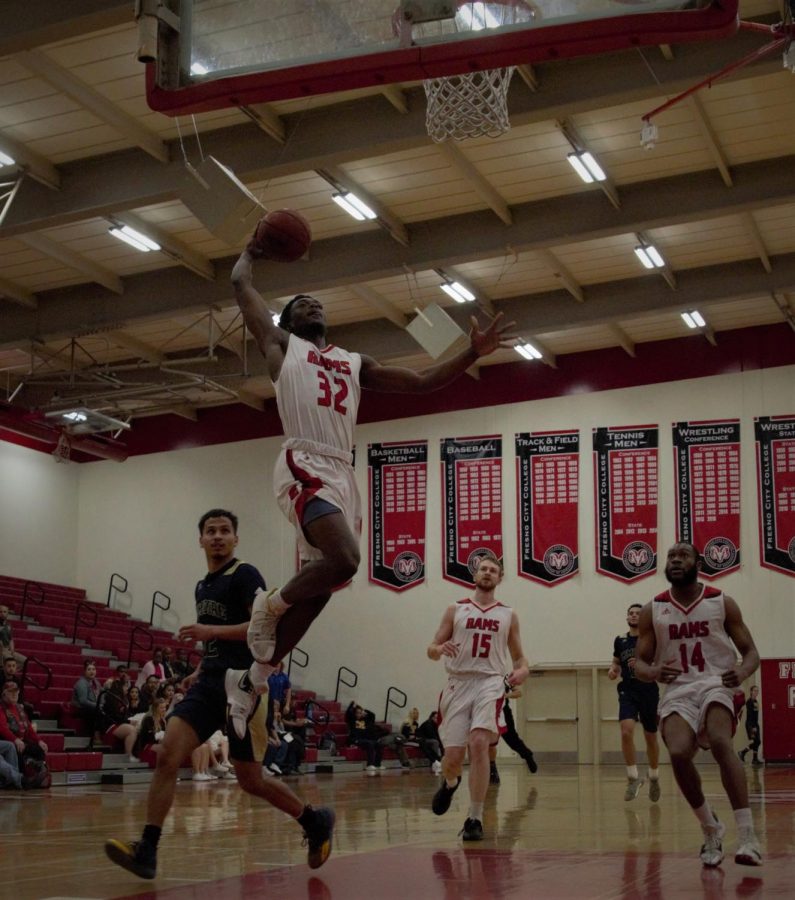
[[[656,425],[594,428],[596,571],[638,581],[657,569]]]

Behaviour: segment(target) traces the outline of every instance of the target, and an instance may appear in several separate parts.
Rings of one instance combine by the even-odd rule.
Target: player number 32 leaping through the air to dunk
[[[298,643],[329,600],[359,567],[361,511],[352,462],[353,430],[361,388],[425,393],[449,384],[479,357],[510,346],[498,314],[481,331],[472,319],[470,345],[446,362],[420,372],[382,366],[369,356],[329,345],[323,305],[298,294],[279,325],[252,283],[252,261],[263,256],[253,242],[232,270],[246,325],[276,387],[286,440],[274,471],[276,498],[298,532],[300,571],[281,590],[254,601],[248,644],[255,662],[227,679],[230,717],[238,733],[267,690],[273,666]],[[277,633],[278,625],[278,633]]]

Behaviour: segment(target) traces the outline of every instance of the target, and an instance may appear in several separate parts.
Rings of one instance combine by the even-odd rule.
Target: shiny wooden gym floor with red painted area
[[[0,795],[0,896],[43,898],[270,897],[279,900],[515,900],[515,898],[791,897],[795,769],[747,768],[765,853],[762,868],[734,864],[735,827],[714,765],[705,792],[727,824],[726,859],[704,870],[701,833],[662,768],[663,794],[644,788],[625,803],[617,766],[541,766],[500,760],[489,788],[486,839],[463,845],[462,785],[447,815],[434,816],[437,779],[427,769],[290,779],[314,804],[337,811],[334,852],[305,864],[298,826],[234,782],[180,783],[161,841],[155,881],[113,866],[107,837],[137,839],[147,785],[55,787]]]

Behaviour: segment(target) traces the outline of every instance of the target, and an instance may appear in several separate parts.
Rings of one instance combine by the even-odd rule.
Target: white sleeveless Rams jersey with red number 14
[[[734,668],[737,662],[737,651],[724,625],[723,591],[702,585],[701,596],[689,607],[680,606],[670,591],[664,591],[654,598],[651,609],[657,639],[656,662],[671,661],[682,670],[669,685],[666,696],[706,679],[719,685],[721,673]]]

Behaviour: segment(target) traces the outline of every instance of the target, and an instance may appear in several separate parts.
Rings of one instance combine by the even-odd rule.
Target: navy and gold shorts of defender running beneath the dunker
[[[177,716],[196,732],[201,743],[220,728],[229,738],[229,756],[238,762],[262,762],[268,745],[267,706],[257,701],[257,708],[241,740],[234,728],[226,729],[226,690],[223,671],[199,675],[184,698],[174,707]]]

